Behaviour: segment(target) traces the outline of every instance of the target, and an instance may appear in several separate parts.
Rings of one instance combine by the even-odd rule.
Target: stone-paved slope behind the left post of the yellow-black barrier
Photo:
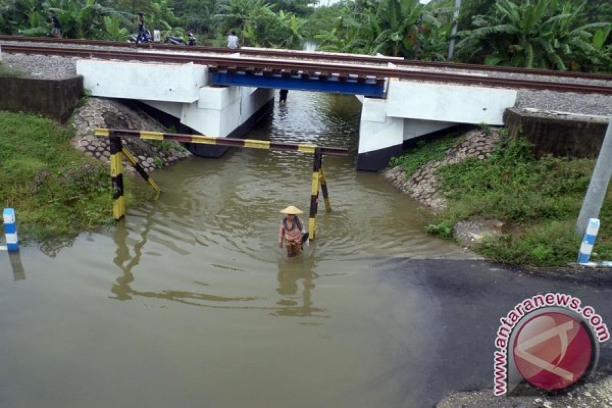
[[[110,160],[109,142],[106,138],[95,137],[95,128],[167,132],[163,125],[134,106],[108,98],[87,98],[84,105],[75,110],[72,121],[76,129],[73,146],[89,157],[105,162]],[[171,165],[190,155],[180,144],[171,141],[152,143],[138,138],[122,140],[146,172]],[[127,171],[133,171],[127,162],[125,166]]]

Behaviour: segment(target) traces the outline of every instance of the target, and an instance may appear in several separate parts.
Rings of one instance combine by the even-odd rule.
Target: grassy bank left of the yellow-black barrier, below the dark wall
[[[0,111],[0,206],[17,211],[20,238],[74,236],[113,223],[108,167],[50,119]],[[147,194],[125,177],[128,205]],[[136,195],[136,197],[135,197]]]

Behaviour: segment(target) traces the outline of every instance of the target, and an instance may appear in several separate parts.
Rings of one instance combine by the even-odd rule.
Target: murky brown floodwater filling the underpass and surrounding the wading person
[[[354,171],[359,109],[354,97],[292,91],[247,135],[351,150],[324,158],[332,212],[321,199],[316,240],[296,259],[278,248],[278,211],[308,213],[312,156],[252,149],[155,173],[159,201],[108,231],[25,247],[12,263],[0,253],[0,407],[439,398],[424,396],[419,373],[392,374],[406,354],[422,366],[430,295],[381,283],[376,265],[470,254],[425,235],[380,174]]]

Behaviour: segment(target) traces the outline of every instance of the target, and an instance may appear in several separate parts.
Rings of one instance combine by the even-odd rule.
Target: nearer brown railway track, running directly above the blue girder
[[[74,41],[74,40],[73,40]],[[133,46],[133,45],[132,45]],[[506,87],[512,89],[546,89],[558,92],[579,92],[586,94],[612,95],[612,86],[594,84],[558,83],[554,81],[499,78],[452,72],[424,72],[406,67],[376,67],[373,65],[339,64],[338,62],[280,60],[256,57],[232,57],[226,55],[198,55],[187,53],[164,53],[154,50],[101,50],[96,48],[60,48],[39,45],[2,45],[6,53],[37,54],[64,57],[117,59],[122,61],[165,62],[174,64],[208,65],[212,70],[241,72],[247,75],[300,75],[310,77],[330,76],[339,81],[371,81],[378,83],[384,78],[427,81],[450,84],[471,84],[479,86]],[[612,81],[612,78],[610,78]]]

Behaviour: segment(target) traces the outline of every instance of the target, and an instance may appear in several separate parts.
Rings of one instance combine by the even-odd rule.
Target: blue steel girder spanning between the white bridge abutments
[[[384,84],[376,81],[376,78],[357,80],[357,78],[348,77],[340,80],[334,75],[302,78],[300,74],[283,77],[282,75],[263,75],[263,73],[209,72],[209,80],[212,85],[294,89],[379,98],[384,96]]]

